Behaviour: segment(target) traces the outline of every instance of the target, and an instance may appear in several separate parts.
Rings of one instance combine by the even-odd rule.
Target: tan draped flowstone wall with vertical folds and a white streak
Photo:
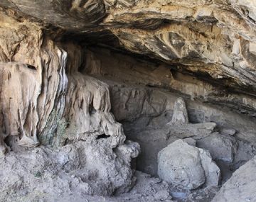
[[[122,144],[107,84],[78,72],[81,48],[58,45],[38,26],[0,14],[1,145],[4,139],[11,147],[63,145],[102,134],[111,136],[112,147]],[[63,48],[76,50],[77,58]]]

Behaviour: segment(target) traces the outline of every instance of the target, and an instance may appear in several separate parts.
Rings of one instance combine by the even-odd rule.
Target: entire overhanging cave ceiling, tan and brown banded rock
[[[250,0],[1,0],[55,40],[102,45],[256,96],[256,3]]]

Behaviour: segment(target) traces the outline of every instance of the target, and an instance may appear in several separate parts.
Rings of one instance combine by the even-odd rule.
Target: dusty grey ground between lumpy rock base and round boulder
[[[33,199],[44,199],[45,201],[56,201],[56,202],[68,202],[68,201],[79,201],[79,202],[147,202],[147,201],[165,201],[172,202],[171,195],[169,193],[169,185],[165,181],[161,181],[158,178],[149,176],[142,172],[135,172],[136,185],[129,191],[129,193],[122,193],[115,196],[90,196],[83,194],[64,194],[61,196],[35,196],[31,194],[25,199],[31,197]],[[21,198],[21,201],[24,199]],[[19,202],[19,201],[18,201]]]

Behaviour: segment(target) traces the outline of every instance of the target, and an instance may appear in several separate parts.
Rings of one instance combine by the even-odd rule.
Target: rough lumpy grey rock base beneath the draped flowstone
[[[110,144],[109,139],[88,138],[56,150],[36,147],[10,152],[0,158],[0,201],[129,191],[136,180],[130,162],[137,157],[139,145],[127,142],[113,151]]]

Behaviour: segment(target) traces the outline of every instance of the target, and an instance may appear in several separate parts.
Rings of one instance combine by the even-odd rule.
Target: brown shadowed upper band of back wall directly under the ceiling
[[[85,51],[85,58],[86,64],[81,71],[95,77],[102,76],[128,84],[180,92],[191,100],[213,103],[217,107],[228,106],[239,113],[255,116],[254,96],[229,91],[221,85],[212,84],[209,80],[202,80],[191,74],[181,74],[165,63],[150,62],[143,58],[134,59],[102,47],[89,47]]]

